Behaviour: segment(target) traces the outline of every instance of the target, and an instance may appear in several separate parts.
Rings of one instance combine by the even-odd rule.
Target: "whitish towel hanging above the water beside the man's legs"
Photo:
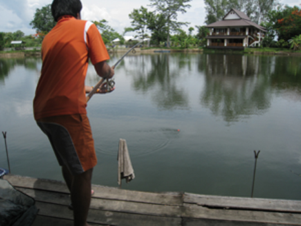
[[[129,158],[129,150],[127,150],[127,141],[125,139],[119,139],[118,150],[118,184],[121,184],[121,180],[130,182],[135,178],[133,166],[131,166],[131,159]]]

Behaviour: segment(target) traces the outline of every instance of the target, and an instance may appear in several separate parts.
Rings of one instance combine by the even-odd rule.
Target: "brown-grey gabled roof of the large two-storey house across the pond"
[[[234,11],[240,19],[225,19],[232,11]],[[228,28],[228,27],[241,27],[241,26],[242,27],[253,26],[253,27],[259,29],[260,31],[266,32],[266,29],[263,26],[260,26],[258,24],[255,24],[254,22],[250,21],[250,18],[246,14],[244,14],[244,12],[240,12],[235,9],[230,10],[221,21],[217,21],[215,23],[208,24],[206,27],[208,27],[208,28],[216,28],[216,27],[217,28]]]

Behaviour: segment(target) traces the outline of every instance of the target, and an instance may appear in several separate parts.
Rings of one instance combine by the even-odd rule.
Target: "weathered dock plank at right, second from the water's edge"
[[[232,220],[244,223],[253,222],[301,225],[301,214],[237,209],[210,209],[191,204],[184,204],[182,217],[211,220]]]

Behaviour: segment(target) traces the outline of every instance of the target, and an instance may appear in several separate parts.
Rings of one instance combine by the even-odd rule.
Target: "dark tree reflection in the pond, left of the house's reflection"
[[[133,77],[133,87],[136,92],[152,95],[152,100],[161,110],[187,109],[188,94],[179,85],[181,67],[190,64],[183,63],[181,57],[169,54],[141,55],[139,61],[129,59],[127,69]]]

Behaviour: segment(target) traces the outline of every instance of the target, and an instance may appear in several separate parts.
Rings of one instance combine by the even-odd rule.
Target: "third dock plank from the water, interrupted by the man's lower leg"
[[[54,205],[44,202],[37,202],[39,216],[47,216],[51,218],[60,218],[63,220],[72,220],[73,212],[62,205]],[[122,225],[122,226],[165,226],[165,225],[181,225],[181,218],[170,218],[161,216],[149,216],[141,214],[125,214],[115,211],[104,211],[100,209],[90,209],[88,223],[102,225]]]

